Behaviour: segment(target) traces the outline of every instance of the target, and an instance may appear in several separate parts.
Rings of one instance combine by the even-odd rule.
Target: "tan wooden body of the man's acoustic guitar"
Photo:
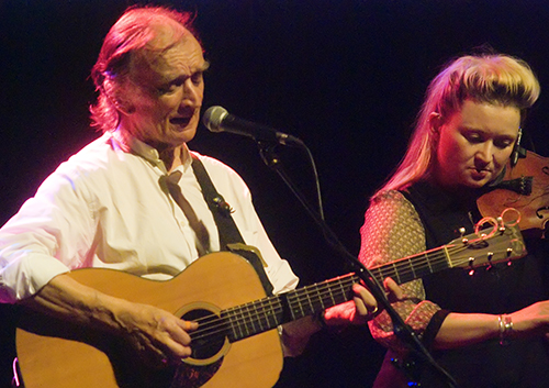
[[[69,276],[101,292],[153,304],[178,317],[194,309],[219,312],[266,297],[251,265],[225,252],[201,257],[167,281],[96,268]],[[115,336],[25,313],[18,323],[16,350],[26,388],[272,387],[282,369],[277,330],[231,344],[226,341],[208,359],[153,369]]]

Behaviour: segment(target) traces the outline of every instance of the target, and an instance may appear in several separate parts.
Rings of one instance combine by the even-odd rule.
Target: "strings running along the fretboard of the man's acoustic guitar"
[[[450,256],[451,254],[456,254],[468,248],[469,247],[467,245],[446,247]],[[412,260],[416,260],[418,264],[412,265]],[[380,278],[378,279],[380,281],[393,274],[396,274],[397,278],[405,278],[412,275],[413,279],[416,278],[416,275],[419,273],[437,271],[440,269],[441,264],[444,265],[444,268],[449,268],[452,267],[452,265],[460,266],[467,263],[469,263],[469,258],[450,262],[442,247],[437,252],[414,255],[407,258],[386,263],[371,268],[371,270],[380,274]],[[290,304],[292,320],[295,319],[295,312],[300,312],[300,317],[298,318],[301,318],[314,313],[317,308],[325,308],[326,306],[332,307],[350,300],[350,287],[352,284],[358,281],[358,276],[348,274],[336,278],[335,280],[325,280],[320,284],[310,285],[304,288],[290,291],[288,295],[288,302]],[[337,286],[334,286],[334,284],[337,284]],[[339,288],[337,293],[334,293],[332,290],[335,287]],[[295,306],[299,307],[300,311],[293,311],[292,307]],[[305,308],[303,308],[303,306],[305,306]],[[283,323],[281,322],[282,312],[283,306],[279,297],[274,296],[264,298],[250,303],[223,310],[221,315],[212,313],[211,315],[198,319],[197,322],[199,323],[199,329],[191,333],[191,337],[193,340],[201,340],[209,336],[220,337],[229,335],[229,332],[232,331],[233,337],[235,340],[239,340],[257,332],[274,329],[278,324]],[[266,323],[265,326],[261,319]],[[270,322],[271,320],[273,323]],[[200,326],[201,324],[202,326]],[[259,326],[259,330],[256,329],[256,324]]]

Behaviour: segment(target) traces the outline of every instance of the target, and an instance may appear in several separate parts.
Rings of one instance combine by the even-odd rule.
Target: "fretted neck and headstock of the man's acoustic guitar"
[[[481,231],[481,237],[470,234],[448,245],[372,267],[370,273],[379,282],[391,277],[403,284],[447,268],[474,268],[526,254],[518,226],[501,229],[497,233],[492,230]],[[489,233],[492,234],[486,236]],[[238,341],[351,300],[352,285],[359,281],[357,275],[348,274],[224,310],[226,335],[232,342]]]

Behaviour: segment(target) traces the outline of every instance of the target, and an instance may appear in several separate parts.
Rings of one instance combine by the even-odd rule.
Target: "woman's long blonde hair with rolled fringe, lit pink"
[[[516,107],[524,120],[539,92],[536,76],[522,59],[486,54],[450,62],[429,84],[406,154],[380,191],[405,189],[430,174],[437,146],[429,122],[433,112],[447,120],[464,100],[472,100]]]

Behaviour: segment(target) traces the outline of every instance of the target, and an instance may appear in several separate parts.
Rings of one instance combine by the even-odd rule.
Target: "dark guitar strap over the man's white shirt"
[[[212,179],[204,168],[204,165],[195,156],[192,157],[192,171],[199,181],[202,189],[202,196],[204,197],[204,200],[213,214],[215,224],[217,225],[221,251],[229,251],[246,258],[259,276],[267,295],[271,296],[272,285],[265,273],[265,260],[261,257],[261,253],[255,246],[246,245],[235,221],[233,220],[233,217],[231,215],[231,206],[225,202],[223,196],[217,192]]]

